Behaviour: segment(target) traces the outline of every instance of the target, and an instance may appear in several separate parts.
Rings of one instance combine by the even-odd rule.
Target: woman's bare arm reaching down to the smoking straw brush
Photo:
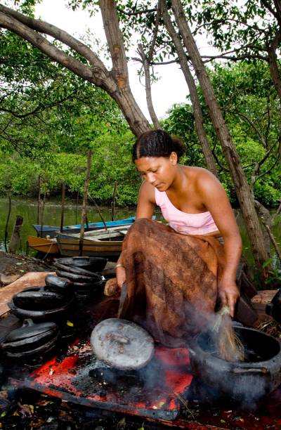
[[[198,187],[202,201],[211,212],[224,240],[226,264],[218,283],[218,295],[222,304],[228,304],[233,316],[235,303],[240,295],[236,285],[236,271],[242,254],[242,240],[223,185],[209,171],[204,171],[200,175]]]

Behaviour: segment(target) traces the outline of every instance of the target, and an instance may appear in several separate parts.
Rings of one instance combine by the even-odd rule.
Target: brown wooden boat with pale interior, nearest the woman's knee
[[[85,232],[82,255],[103,256],[116,261],[122,251],[122,241],[130,226],[118,226]],[[58,249],[63,256],[79,255],[79,233],[58,233]]]

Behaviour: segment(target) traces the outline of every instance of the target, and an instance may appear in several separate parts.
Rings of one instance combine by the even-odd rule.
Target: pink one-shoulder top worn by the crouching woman
[[[210,212],[202,214],[186,214],[177,209],[171,203],[165,191],[158,191],[155,188],[155,201],[161,208],[164,219],[169,222],[169,226],[183,235],[206,235],[218,231]]]

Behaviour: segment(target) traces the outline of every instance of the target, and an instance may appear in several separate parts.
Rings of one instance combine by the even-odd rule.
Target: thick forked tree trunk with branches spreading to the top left
[[[119,30],[115,1],[100,0],[100,8],[103,12],[105,34],[112,55],[112,72],[106,69],[103,62],[90,48],[70,36],[70,34],[67,34],[67,32],[46,22],[25,17],[25,15],[6,8],[3,5],[0,5],[0,27],[18,34],[39,48],[52,60],[67,67],[74,74],[77,74],[77,76],[107,91],[118,103],[133,133],[139,136],[144,131],[147,131],[150,126],[143,112],[138,107],[136,100],[133,98],[129,87],[124,43]],[[91,67],[67,55],[62,49],[51,44],[46,37],[43,37],[37,31],[49,34],[74,49],[90,63]]]

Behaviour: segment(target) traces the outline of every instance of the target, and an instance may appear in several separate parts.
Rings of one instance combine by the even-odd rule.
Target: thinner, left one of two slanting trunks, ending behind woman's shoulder
[[[186,58],[185,51],[181,44],[181,39],[178,37],[178,33],[174,29],[174,25],[171,22],[170,15],[166,8],[166,2],[163,0],[161,1],[161,11],[162,11],[162,17],[166,25],[166,29],[168,30],[171,36],[171,39],[174,42],[174,45],[176,46],[176,52],[178,53],[178,60],[181,65],[181,70],[183,71],[185,81],[188,84],[188,89],[190,92],[190,99],[191,99],[192,109],[193,109],[193,115],[195,119],[195,128],[197,131],[197,136],[200,141],[204,158],[206,160],[207,169],[209,169],[209,171],[211,171],[211,173],[218,178],[218,171],[216,170],[214,156],[211,152],[207,134],[204,129],[204,119],[203,119],[203,114],[200,106],[200,100],[198,97],[196,85],[192,77],[192,74],[190,72],[190,68],[188,66],[188,60]]]

